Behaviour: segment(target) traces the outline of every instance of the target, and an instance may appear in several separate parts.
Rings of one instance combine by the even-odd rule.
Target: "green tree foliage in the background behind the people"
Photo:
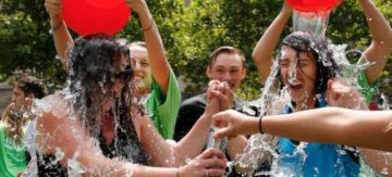
[[[45,0],[2,0],[0,3],[0,80],[13,72],[30,69],[34,75],[54,85],[64,81],[64,73],[56,60]],[[373,0],[387,20],[392,22],[392,1]],[[168,59],[177,76],[192,83],[184,97],[201,92],[208,78],[206,66],[210,52],[220,46],[243,50],[248,75],[238,91],[245,100],[255,99],[262,87],[252,61],[253,48],[281,10],[283,1],[271,0],[183,0],[147,1],[159,26]],[[334,43],[352,49],[366,49],[371,41],[366,18],[356,0],[344,1],[330,15],[327,36]],[[291,31],[291,22],[282,36]],[[128,41],[143,39],[138,17],[117,35]],[[391,58],[391,56],[390,56]],[[382,72],[381,80],[391,77],[392,63]],[[385,81],[381,81],[385,83]],[[392,92],[390,84],[382,89]]]

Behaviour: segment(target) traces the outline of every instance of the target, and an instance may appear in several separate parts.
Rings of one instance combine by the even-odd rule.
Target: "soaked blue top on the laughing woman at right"
[[[317,108],[327,106],[322,97]],[[287,106],[285,114],[292,110]],[[358,176],[358,161],[339,144],[307,143],[303,152],[295,152],[297,146],[287,138],[279,138],[279,170],[294,176],[343,177]]]

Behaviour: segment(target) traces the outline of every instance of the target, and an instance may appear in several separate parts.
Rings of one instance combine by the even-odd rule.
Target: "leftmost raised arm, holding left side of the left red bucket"
[[[74,41],[61,16],[61,0],[46,0],[45,8],[50,17],[50,26],[53,35],[56,51],[63,67],[68,71],[69,61],[66,60],[66,49],[70,46],[73,46]]]

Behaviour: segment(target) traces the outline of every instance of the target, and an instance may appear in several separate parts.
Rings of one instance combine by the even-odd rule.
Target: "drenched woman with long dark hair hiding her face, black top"
[[[118,106],[122,103],[117,102],[115,98],[122,94],[123,87],[133,77],[133,62],[126,45],[114,41],[108,35],[88,35],[75,41],[70,60],[71,69],[66,88],[36,101],[36,109],[41,116],[29,126],[29,129],[35,129],[36,132],[32,131],[27,137],[32,154],[27,174],[33,173],[38,176],[218,176],[224,174],[225,157],[221,151],[209,149],[196,156],[197,153],[192,153],[194,149],[188,148],[194,144],[186,142],[183,143],[185,147],[179,144],[179,149],[175,150],[182,151],[188,148],[186,150],[191,153],[184,152],[184,154],[189,154],[187,157],[196,157],[186,164],[183,163],[184,166],[174,167],[172,161],[177,157],[173,156],[176,154],[173,153],[173,147],[166,143],[151,126],[151,121],[137,105],[134,105],[137,101],[130,103],[131,110]],[[132,96],[124,94],[123,92],[126,99],[133,100]],[[209,115],[206,116],[210,116],[218,110],[218,100],[211,99],[210,103],[209,112],[206,112]],[[108,112],[114,116],[115,130],[101,127],[105,124],[102,114]],[[128,115],[120,116],[123,114]],[[173,167],[140,166],[130,157],[132,155],[128,153],[143,154],[143,152],[126,144],[128,136],[126,130],[131,127],[120,124],[124,122],[128,124],[132,121],[135,122],[134,119],[138,119],[136,123],[140,125],[140,137],[148,137],[149,139],[146,140],[158,147],[157,149],[160,149],[162,153],[172,152],[160,155],[166,157],[172,155],[171,159],[167,159],[167,163]],[[115,131],[122,131],[123,135]],[[105,154],[106,152],[100,147],[102,139],[99,138],[100,134],[110,132],[115,135],[113,141],[117,141],[112,156]],[[187,142],[193,141],[198,142],[194,139]],[[199,147],[203,149],[203,144]],[[154,154],[151,156],[150,161],[159,159],[154,157]]]

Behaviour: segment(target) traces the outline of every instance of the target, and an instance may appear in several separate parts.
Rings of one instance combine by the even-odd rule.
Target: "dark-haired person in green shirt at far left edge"
[[[41,99],[47,90],[41,80],[23,76],[13,89],[12,102],[0,121],[0,176],[13,177],[26,168],[26,148],[23,142],[26,123],[35,118],[32,102]]]

